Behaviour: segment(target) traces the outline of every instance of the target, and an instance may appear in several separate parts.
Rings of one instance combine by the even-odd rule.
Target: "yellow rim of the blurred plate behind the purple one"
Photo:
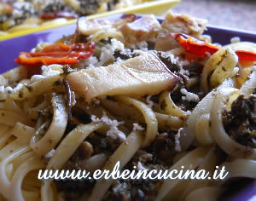
[[[92,14],[90,16],[87,16],[86,18],[88,20],[102,18],[111,14],[155,14],[155,15],[164,15],[168,9],[171,9],[172,6],[179,3],[181,0],[156,0],[153,2],[148,3],[142,3],[137,4],[135,6],[131,6],[130,8],[125,9],[117,9],[109,12],[105,12],[102,14]],[[13,37],[20,37],[24,36],[33,32],[40,32],[44,31],[46,29],[51,29],[59,26],[67,26],[73,23],[76,23],[77,20],[68,20],[65,23],[60,23],[60,21],[56,23],[52,23],[49,21],[49,24],[46,24],[44,26],[38,26],[36,28],[30,28],[26,30],[22,30],[20,32],[13,32],[9,34],[4,34],[3,32],[0,32],[0,41],[7,40]],[[2,35],[1,35],[2,34]]]

